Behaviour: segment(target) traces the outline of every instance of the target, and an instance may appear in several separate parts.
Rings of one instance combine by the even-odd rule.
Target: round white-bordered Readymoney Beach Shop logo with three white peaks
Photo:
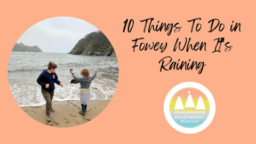
[[[175,130],[197,133],[212,122],[215,101],[205,86],[195,82],[181,83],[166,95],[164,115]]]

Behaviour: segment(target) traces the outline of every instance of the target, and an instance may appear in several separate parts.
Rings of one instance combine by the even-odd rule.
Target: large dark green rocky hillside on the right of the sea
[[[77,55],[115,55],[113,46],[101,31],[87,34],[78,41],[69,53]]]

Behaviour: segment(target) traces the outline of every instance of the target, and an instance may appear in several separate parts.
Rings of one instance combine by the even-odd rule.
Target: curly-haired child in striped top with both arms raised
[[[73,70],[70,70],[71,75],[74,77],[75,81],[80,82],[81,89],[80,89],[80,99],[81,99],[81,106],[82,110],[79,111],[79,114],[85,116],[86,108],[87,108],[87,103],[90,98],[90,85],[92,80],[96,77],[97,74],[97,69],[94,68],[94,75],[90,77],[90,73],[88,69],[83,69],[81,71],[81,75],[83,77],[76,77],[75,74],[73,73]]]

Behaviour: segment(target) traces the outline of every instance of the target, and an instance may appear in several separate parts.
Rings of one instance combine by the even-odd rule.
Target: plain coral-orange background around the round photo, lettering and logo
[[[1,2],[1,143],[253,143],[255,142],[255,2],[254,1],[4,1]],[[12,48],[35,23],[52,17],[74,17],[90,22],[109,39],[117,54],[119,81],[113,100],[92,121],[68,128],[44,125],[30,118],[15,102],[7,77]],[[153,17],[179,22],[182,32],[142,33],[139,20]],[[204,27],[190,33],[187,20],[202,18]],[[217,18],[224,31],[207,33],[208,21]],[[131,33],[123,33],[126,19],[134,19]],[[228,24],[241,22],[241,33]],[[132,51],[131,39],[170,43],[164,53]],[[205,41],[207,52],[173,52],[179,37]],[[232,50],[211,53],[213,39],[225,37]],[[212,48],[213,50],[213,48]],[[159,72],[158,61],[173,59],[205,61],[197,71]],[[29,69],[28,69],[29,73]],[[183,134],[164,117],[166,94],[182,82],[197,82],[209,89],[216,103],[212,123],[202,132]]]

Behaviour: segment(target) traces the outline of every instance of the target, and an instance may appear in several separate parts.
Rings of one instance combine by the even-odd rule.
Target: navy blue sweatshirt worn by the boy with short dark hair
[[[41,85],[42,89],[46,91],[53,91],[55,89],[54,83],[60,85],[60,81],[58,80],[58,76],[56,73],[48,73],[47,69],[43,70],[43,72],[38,76],[37,83]],[[45,88],[46,84],[50,84],[48,89]]]

